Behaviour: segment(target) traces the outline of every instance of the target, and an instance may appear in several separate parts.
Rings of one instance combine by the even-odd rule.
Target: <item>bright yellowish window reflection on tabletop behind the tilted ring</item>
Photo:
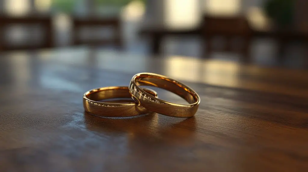
[[[172,56],[166,60],[166,64],[164,71],[173,78],[212,85],[239,85],[237,75],[240,66],[236,63]]]

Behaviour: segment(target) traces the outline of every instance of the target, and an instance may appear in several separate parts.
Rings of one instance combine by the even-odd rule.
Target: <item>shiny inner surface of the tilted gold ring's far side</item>
[[[155,86],[171,91],[172,93],[184,98],[190,104],[198,101],[198,96],[193,90],[168,78],[152,75],[139,75],[136,77],[135,82],[138,86]]]

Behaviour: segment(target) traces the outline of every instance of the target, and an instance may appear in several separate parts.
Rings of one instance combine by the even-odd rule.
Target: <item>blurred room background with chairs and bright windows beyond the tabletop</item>
[[[91,47],[307,68],[306,0],[0,0],[0,51]]]

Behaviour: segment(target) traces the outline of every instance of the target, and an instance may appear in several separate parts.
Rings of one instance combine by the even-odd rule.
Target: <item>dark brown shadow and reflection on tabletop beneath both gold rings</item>
[[[121,100],[117,101],[123,103]],[[122,118],[98,117],[84,112],[84,121],[90,131],[113,136],[129,134],[135,139],[161,140],[173,144],[189,143],[195,137],[197,127],[195,117],[175,118],[153,112]]]

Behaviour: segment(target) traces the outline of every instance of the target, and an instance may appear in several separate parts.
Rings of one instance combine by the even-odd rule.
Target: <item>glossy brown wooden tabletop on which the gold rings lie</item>
[[[86,48],[1,56],[1,172],[307,170],[308,71]],[[84,112],[85,91],[142,71],[196,90],[195,117]]]

